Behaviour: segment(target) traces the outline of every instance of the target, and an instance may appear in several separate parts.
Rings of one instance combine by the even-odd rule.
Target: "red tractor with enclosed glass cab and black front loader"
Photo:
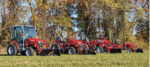
[[[37,39],[34,26],[12,26],[11,40],[7,47],[8,55],[33,56],[34,52],[37,55],[60,55],[59,49],[50,49],[45,40]],[[46,49],[43,48],[46,47]]]

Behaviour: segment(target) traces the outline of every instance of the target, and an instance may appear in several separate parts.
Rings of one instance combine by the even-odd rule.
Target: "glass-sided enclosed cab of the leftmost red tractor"
[[[36,30],[34,26],[12,26],[11,41],[17,42],[19,50],[24,50],[25,39],[36,38]]]

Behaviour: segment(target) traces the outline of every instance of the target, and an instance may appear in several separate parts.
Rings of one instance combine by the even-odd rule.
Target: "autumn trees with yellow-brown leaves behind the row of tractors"
[[[0,45],[8,45],[9,28],[13,25],[36,26],[39,37],[51,43],[52,25],[56,24],[75,25],[80,32],[86,29],[90,39],[111,40],[114,33],[121,43],[147,47],[148,3],[148,0],[1,0]]]

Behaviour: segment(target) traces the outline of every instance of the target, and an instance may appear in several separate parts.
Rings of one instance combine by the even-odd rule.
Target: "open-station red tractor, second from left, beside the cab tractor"
[[[63,30],[64,27],[61,27],[60,29]],[[82,41],[80,40],[76,40],[76,39],[69,39],[66,38],[66,41],[62,40],[62,32],[59,35],[58,38],[55,38],[55,31],[56,29],[54,29],[54,33],[53,33],[53,37],[55,39],[54,44],[51,46],[52,49],[55,48],[60,48],[61,49],[61,53],[64,54],[93,54],[96,55],[95,50],[88,50],[86,49],[86,47],[84,46],[84,43],[82,43]]]

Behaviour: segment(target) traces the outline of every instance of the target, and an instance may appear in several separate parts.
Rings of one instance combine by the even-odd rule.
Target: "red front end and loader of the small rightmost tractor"
[[[134,44],[127,42],[123,43],[123,50],[127,50],[128,53],[131,52],[143,53],[143,50],[141,48],[137,48]]]

